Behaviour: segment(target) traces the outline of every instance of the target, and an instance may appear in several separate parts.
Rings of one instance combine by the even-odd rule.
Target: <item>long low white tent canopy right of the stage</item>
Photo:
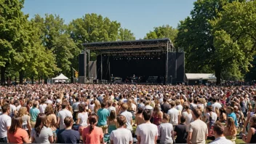
[[[214,73],[185,73],[187,80],[216,80]]]

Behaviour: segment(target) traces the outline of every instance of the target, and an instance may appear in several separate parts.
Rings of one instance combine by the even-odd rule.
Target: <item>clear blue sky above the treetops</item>
[[[180,20],[190,15],[195,0],[25,0],[23,12],[30,17],[39,14],[56,14],[65,23],[96,13],[121,23],[143,39],[154,27],[172,25],[177,27]]]

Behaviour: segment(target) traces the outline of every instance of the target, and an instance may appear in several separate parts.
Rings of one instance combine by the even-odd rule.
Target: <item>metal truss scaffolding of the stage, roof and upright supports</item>
[[[87,74],[87,53],[96,52],[100,55],[100,80],[103,80],[103,55],[122,55],[127,53],[145,53],[145,52],[162,52],[166,55],[165,67],[165,84],[168,81],[168,53],[176,52],[175,47],[170,39],[143,39],[135,41],[111,41],[111,42],[92,42],[83,44],[84,46],[84,80]],[[164,70],[163,70],[164,71]]]

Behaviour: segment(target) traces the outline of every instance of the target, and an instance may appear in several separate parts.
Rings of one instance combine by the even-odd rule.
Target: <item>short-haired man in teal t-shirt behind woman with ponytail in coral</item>
[[[103,102],[101,103],[101,108],[97,111],[97,116],[99,118],[97,122],[97,126],[101,127],[103,129],[104,134],[108,133],[108,116],[109,116],[109,111],[106,108],[107,103]]]

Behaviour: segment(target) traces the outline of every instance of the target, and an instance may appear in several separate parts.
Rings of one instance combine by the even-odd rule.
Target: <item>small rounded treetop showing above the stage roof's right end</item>
[[[146,33],[144,39],[162,39],[162,38],[169,38],[174,43],[177,37],[177,29],[172,28],[169,25],[162,25],[159,27],[153,28],[153,31]]]

